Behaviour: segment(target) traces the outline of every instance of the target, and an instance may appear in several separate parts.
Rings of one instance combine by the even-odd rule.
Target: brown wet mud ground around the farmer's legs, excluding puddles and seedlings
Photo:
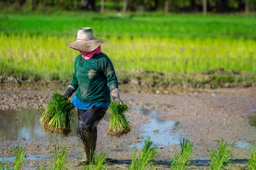
[[[0,110],[44,109],[54,91],[56,90],[36,90],[32,87],[13,89],[1,86]],[[120,97],[129,108],[154,110],[157,113],[154,116],[157,118],[176,122],[168,133],[177,134],[178,141],[186,138],[194,143],[195,164],[189,166],[189,169],[208,169],[209,151],[216,148],[217,141],[221,139],[231,143],[234,150],[233,164],[227,169],[248,168],[246,159],[250,158],[250,145],[256,140],[256,127],[250,124],[250,118],[256,115],[255,87],[177,90],[166,94],[121,92]],[[145,136],[141,136],[141,127],[152,118],[152,115],[141,114],[136,110],[129,110],[126,115],[132,130],[124,138],[109,139],[108,118],[104,118],[98,125],[97,151],[108,151],[109,158],[115,160],[107,166],[108,169],[127,169],[131,163],[132,148],[136,148],[136,144],[145,139]],[[158,130],[155,130],[157,133]],[[68,169],[83,169],[83,166],[77,166],[78,158],[83,157],[83,150],[75,136],[54,138],[54,141],[47,138],[3,140],[3,136],[0,137],[1,158],[12,161],[14,145],[22,145],[27,150],[28,157],[24,163],[26,169],[36,169],[40,166],[50,168],[54,159],[54,145],[67,146]],[[179,148],[179,144],[159,145],[157,169],[170,169],[170,160]]]

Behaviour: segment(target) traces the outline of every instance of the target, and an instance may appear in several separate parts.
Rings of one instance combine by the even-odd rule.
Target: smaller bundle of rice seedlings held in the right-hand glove
[[[126,104],[111,103],[109,109],[112,112],[110,116],[110,124],[108,129],[108,135],[111,137],[120,136],[127,134],[131,131],[131,126],[127,123],[124,112],[127,111],[128,107]]]

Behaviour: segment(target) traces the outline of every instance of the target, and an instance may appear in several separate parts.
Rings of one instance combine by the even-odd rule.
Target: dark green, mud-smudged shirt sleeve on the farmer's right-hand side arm
[[[99,66],[102,66],[102,72],[107,78],[110,92],[113,89],[118,88],[118,80],[116,77],[115,69],[109,57],[105,57],[104,60],[100,60]]]

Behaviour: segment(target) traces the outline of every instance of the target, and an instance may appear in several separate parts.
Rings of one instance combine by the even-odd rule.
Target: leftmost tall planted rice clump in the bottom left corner
[[[15,162],[13,169],[19,170],[22,167],[24,158],[28,153],[20,145],[13,147],[13,155],[15,156]]]

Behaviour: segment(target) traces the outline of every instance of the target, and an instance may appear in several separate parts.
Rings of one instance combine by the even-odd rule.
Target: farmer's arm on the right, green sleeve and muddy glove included
[[[108,80],[108,87],[111,92],[111,97],[114,102],[122,103],[122,100],[119,96],[119,90],[118,90],[118,80],[116,77],[114,66],[110,59],[104,60],[104,69],[103,72]]]

